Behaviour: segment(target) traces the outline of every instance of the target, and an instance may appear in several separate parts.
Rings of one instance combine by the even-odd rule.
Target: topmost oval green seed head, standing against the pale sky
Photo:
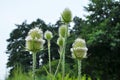
[[[61,16],[62,16],[62,20],[65,23],[69,23],[72,21],[72,13],[68,8],[65,8]]]

